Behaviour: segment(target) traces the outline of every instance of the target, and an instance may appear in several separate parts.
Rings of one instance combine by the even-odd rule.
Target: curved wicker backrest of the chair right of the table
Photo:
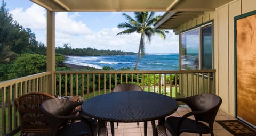
[[[204,111],[201,115],[195,115],[196,120],[205,121],[212,125],[222,100],[217,95],[199,94],[187,97],[186,103],[192,111]]]

